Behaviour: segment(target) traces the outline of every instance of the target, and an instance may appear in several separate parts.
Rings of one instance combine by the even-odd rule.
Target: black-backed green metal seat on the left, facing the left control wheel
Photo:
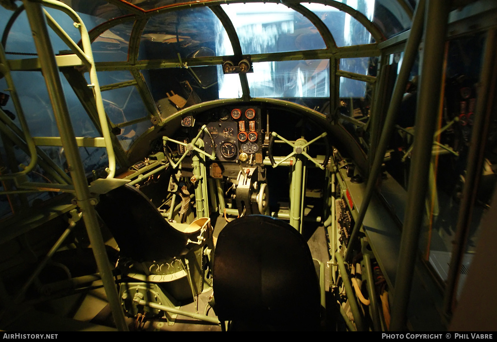
[[[149,301],[178,306],[195,300],[204,286],[210,286],[204,252],[212,248],[211,232],[203,230],[205,225],[194,226],[207,218],[172,226],[145,194],[130,185],[101,195],[96,210],[120,249],[119,268],[129,279],[121,284],[120,294],[127,298],[123,306],[128,315],[140,310],[132,303],[136,292],[143,292]],[[144,285],[152,283],[153,290]],[[147,317],[161,315],[149,311]]]

